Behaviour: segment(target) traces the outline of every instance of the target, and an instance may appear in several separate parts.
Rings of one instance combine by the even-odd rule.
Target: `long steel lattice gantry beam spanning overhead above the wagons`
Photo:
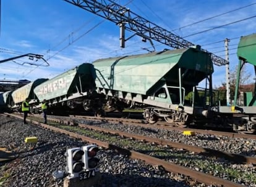
[[[161,26],[140,17],[126,7],[123,7],[111,0],[64,0],[84,10],[106,18],[116,25],[125,25],[125,29],[141,36],[144,39],[153,39],[166,44],[174,49],[195,46],[192,42],[171,33]],[[207,50],[204,50],[208,52]],[[210,53],[210,52],[209,52]],[[224,58],[211,54],[211,59],[215,65],[221,66],[228,63]]]

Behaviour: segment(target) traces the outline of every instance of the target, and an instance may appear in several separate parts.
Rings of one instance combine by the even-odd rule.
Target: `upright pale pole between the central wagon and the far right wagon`
[[[227,100],[227,106],[231,106],[231,100],[230,100],[230,77],[229,77],[229,51],[228,51],[228,42],[230,39],[225,39],[225,60],[226,60],[226,100]]]

